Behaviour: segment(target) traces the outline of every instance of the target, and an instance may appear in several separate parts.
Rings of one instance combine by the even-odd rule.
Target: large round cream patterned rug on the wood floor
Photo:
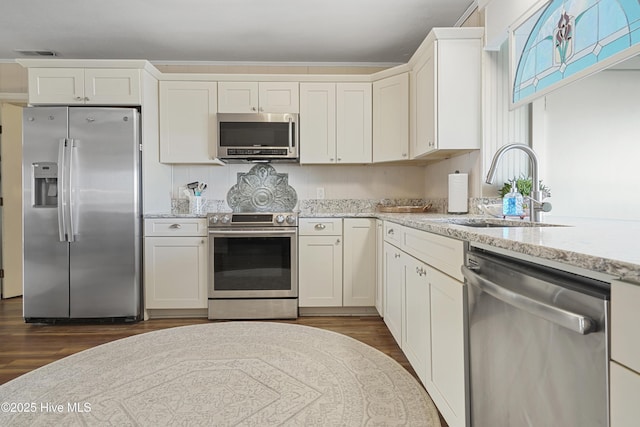
[[[103,344],[0,386],[0,425],[434,426],[395,360],[308,326],[226,322]]]

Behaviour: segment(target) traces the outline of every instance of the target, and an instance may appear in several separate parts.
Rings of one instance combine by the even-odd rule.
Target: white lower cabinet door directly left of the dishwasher
[[[465,425],[464,284],[428,267],[431,289],[431,378],[427,390],[449,425]]]

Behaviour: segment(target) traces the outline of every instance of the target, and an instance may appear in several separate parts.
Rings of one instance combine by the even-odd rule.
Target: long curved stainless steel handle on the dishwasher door
[[[461,270],[469,284],[511,306],[525,310],[534,316],[541,317],[582,335],[594,332],[596,329],[596,322],[588,316],[573,313],[503,288],[464,265]]]

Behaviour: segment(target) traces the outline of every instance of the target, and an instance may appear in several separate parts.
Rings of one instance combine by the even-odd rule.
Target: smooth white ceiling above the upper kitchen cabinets
[[[472,0],[3,0],[0,60],[16,49],[158,64],[407,62]]]

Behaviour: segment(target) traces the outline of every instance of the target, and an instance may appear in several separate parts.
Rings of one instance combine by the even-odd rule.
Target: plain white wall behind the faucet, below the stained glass
[[[546,97],[549,216],[640,219],[640,71],[603,71]]]

